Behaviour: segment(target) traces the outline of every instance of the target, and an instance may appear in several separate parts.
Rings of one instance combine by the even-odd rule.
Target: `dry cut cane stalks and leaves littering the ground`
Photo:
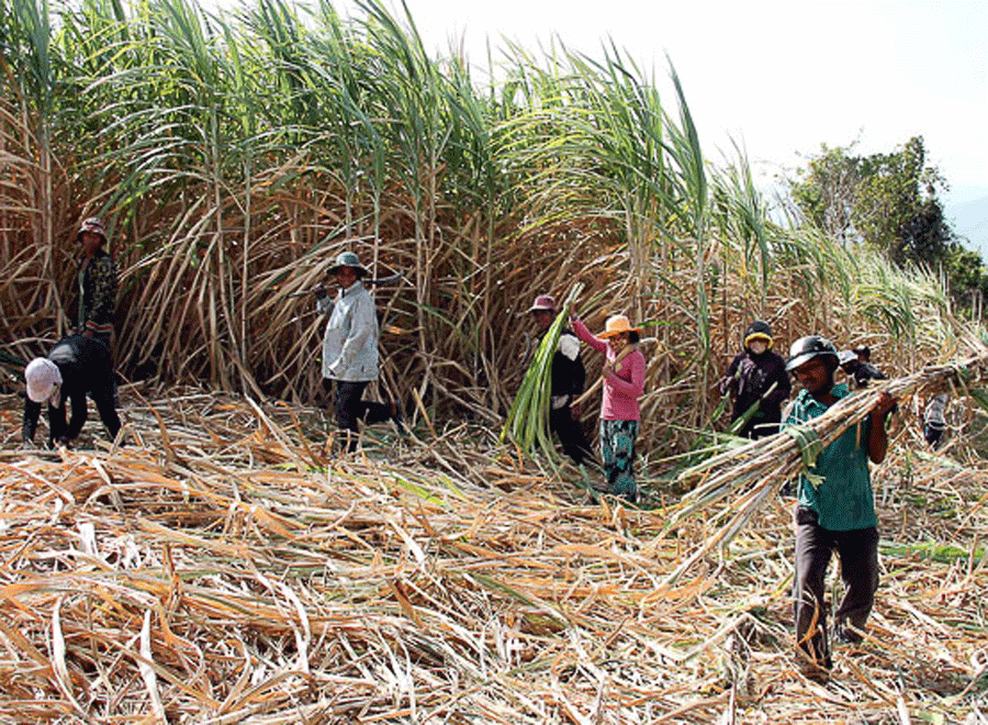
[[[789,651],[789,502],[671,589],[698,525],[494,433],[333,459],[319,411],[143,393],[115,451],[92,422],[19,450],[0,404],[2,722],[981,722],[984,464],[878,470],[872,638],[824,687]]]

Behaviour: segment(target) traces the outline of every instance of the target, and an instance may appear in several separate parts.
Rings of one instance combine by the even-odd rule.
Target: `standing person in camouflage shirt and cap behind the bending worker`
[[[76,272],[78,306],[74,332],[96,337],[109,347],[113,338],[117,270],[105,250],[106,227],[98,217],[90,216],[82,222],[77,239],[81,258]]]

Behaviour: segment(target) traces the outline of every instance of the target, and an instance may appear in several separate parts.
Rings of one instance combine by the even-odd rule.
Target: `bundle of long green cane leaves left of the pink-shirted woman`
[[[570,303],[575,300],[583,285],[577,282],[560,305],[552,326],[542,335],[538,349],[525,371],[521,387],[508,411],[501,432],[501,439],[510,437],[525,454],[535,451],[536,444],[550,458],[555,457],[555,446],[549,432],[549,399],[552,395],[552,358],[559,349],[559,337],[569,315]]]

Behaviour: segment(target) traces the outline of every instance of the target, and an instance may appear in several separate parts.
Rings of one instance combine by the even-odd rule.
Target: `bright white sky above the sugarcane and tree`
[[[922,135],[962,203],[988,197],[988,2],[407,0],[438,55],[486,40],[531,51],[553,34],[599,55],[608,36],[665,90],[676,66],[708,158],[742,141],[767,181],[821,143],[891,150]],[[353,14],[353,3],[336,3]],[[495,56],[496,57],[496,56]],[[670,91],[669,102],[674,102]]]

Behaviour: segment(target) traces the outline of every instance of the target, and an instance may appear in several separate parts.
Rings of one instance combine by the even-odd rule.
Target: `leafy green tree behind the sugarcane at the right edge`
[[[944,219],[945,181],[927,164],[922,136],[888,154],[860,156],[854,144],[821,147],[789,180],[802,217],[844,244],[863,243],[905,267],[943,270],[957,300],[988,288],[980,255],[966,250]]]

